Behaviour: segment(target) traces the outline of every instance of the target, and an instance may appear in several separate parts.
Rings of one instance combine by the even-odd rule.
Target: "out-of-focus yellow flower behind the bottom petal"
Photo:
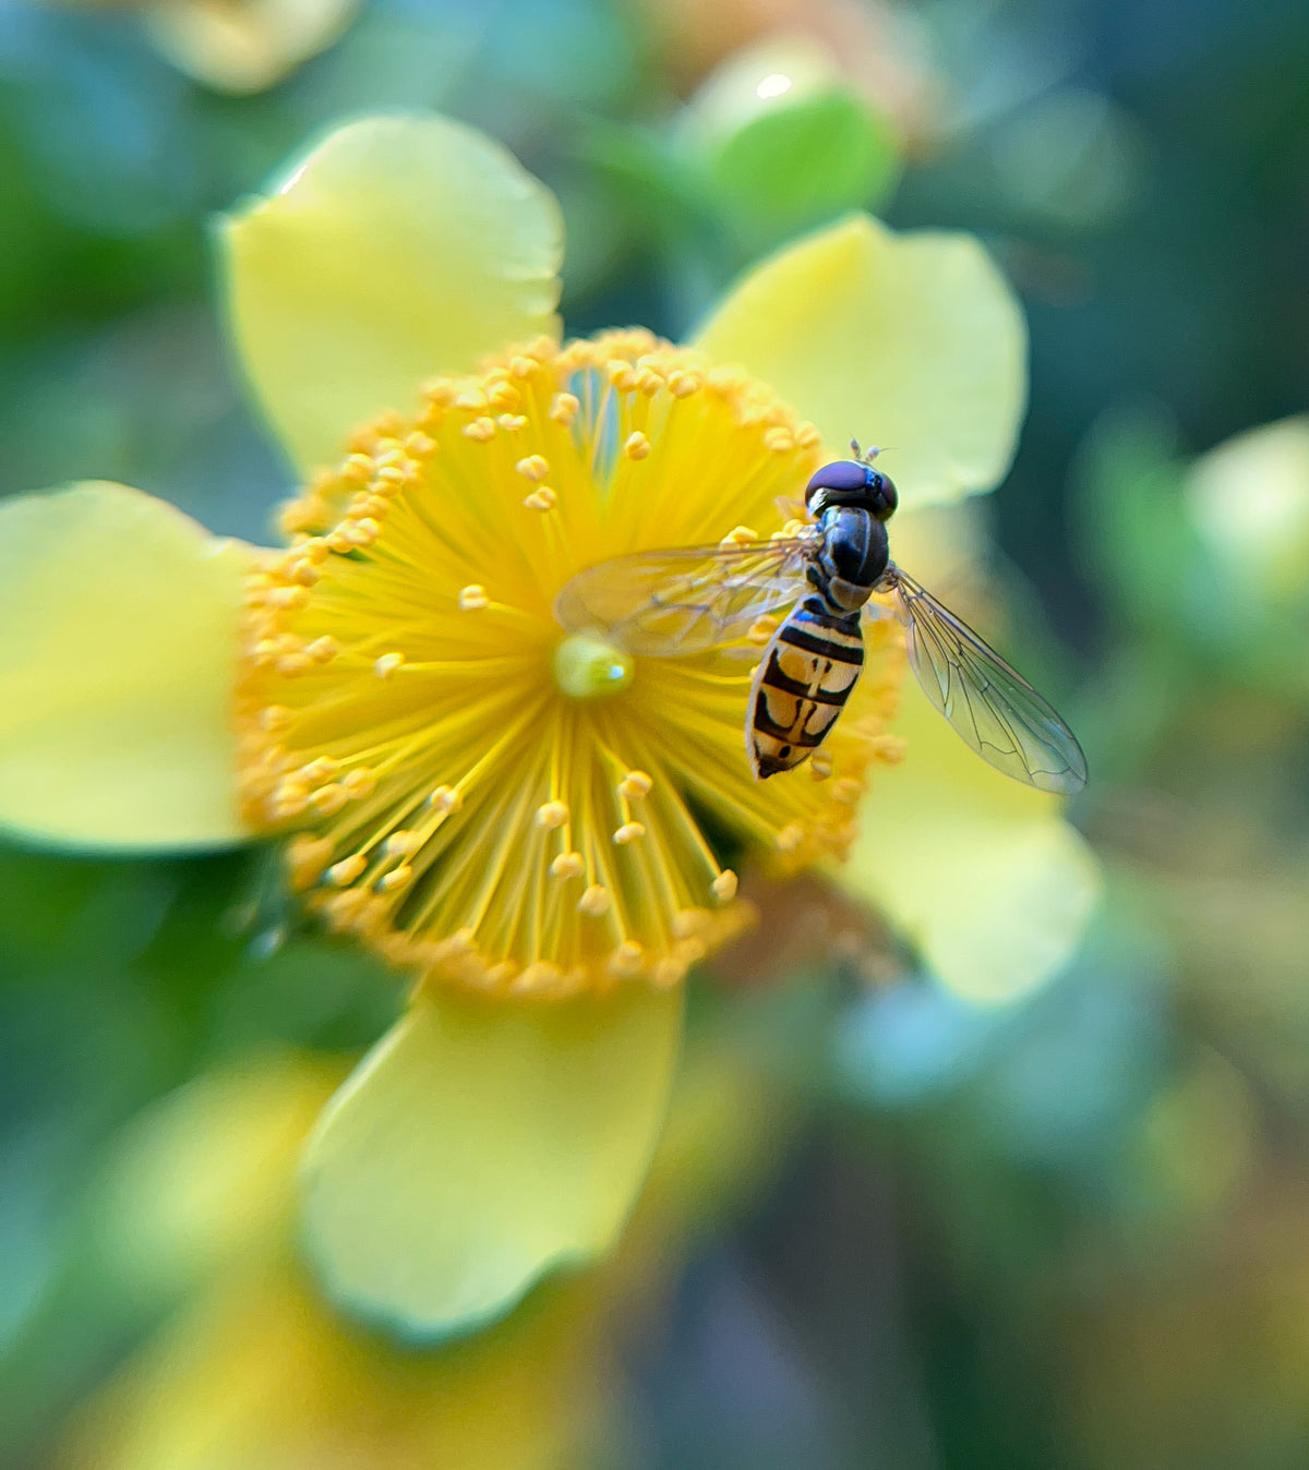
[[[163,1326],[74,1416],[56,1463],[96,1470],[565,1470],[619,1394],[615,1338],[688,1244],[775,1169],[793,1104],[722,1036],[696,1050],[622,1251],[474,1342],[415,1352],[343,1323],[293,1258],[294,1160],[338,1063],[201,1075],[124,1130],[94,1266]]]

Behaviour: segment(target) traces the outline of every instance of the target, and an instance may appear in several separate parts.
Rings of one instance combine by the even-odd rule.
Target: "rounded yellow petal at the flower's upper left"
[[[557,335],[550,191],[449,118],[347,123],[224,220],[237,347],[302,470],[434,373]]]

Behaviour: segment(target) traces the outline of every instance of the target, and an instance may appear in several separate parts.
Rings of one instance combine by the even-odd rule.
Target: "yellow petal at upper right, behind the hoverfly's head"
[[[856,215],[755,266],[696,340],[766,379],[834,456],[885,447],[900,501],[991,490],[1027,403],[1027,326],[971,235]]]

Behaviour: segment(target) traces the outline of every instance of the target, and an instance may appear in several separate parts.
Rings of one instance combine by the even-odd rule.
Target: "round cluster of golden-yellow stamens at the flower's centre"
[[[866,769],[899,750],[903,648],[869,641],[816,779],[759,782],[750,654],[775,617],[649,657],[559,628],[554,598],[607,557],[794,534],[819,437],[640,331],[541,338],[421,392],[315,476],[293,545],[250,573],[246,814],[328,929],[422,985],[677,985],[750,919],[721,836],[775,875],[843,857]]]

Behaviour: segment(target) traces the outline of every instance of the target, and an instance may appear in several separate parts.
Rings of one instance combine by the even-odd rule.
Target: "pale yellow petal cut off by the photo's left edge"
[[[0,826],[125,851],[241,841],[244,569],[124,485],[0,506]]]

